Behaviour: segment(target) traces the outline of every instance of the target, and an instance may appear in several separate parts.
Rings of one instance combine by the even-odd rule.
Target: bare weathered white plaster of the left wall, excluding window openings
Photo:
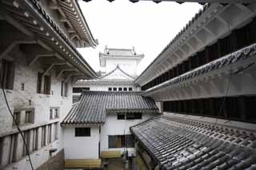
[[[72,105],[72,87],[69,83],[68,97],[61,97],[61,81],[56,79],[56,74],[54,70],[50,72],[51,75],[51,91],[53,95],[39,94],[37,90],[37,79],[38,70],[40,70],[40,65],[35,64],[32,66],[26,65],[25,53],[19,51],[18,47],[15,48],[10,56],[15,58],[15,74],[14,74],[14,89],[6,90],[6,96],[10,105],[10,109],[14,112],[14,109],[29,109],[34,108],[34,124],[22,125],[22,130],[35,128],[41,125],[46,125],[54,122],[59,122],[62,117],[68,113]],[[21,89],[22,83],[24,83],[24,91]],[[42,85],[43,86],[43,85]],[[30,102],[31,101],[31,105]],[[59,118],[50,120],[50,107],[59,108]],[[59,126],[59,124],[58,124]],[[31,159],[34,168],[38,168],[41,164],[46,162],[50,158],[49,149],[57,148],[57,152],[62,150],[62,130],[58,127],[58,140],[46,145],[41,148],[41,128],[38,129],[38,150],[31,153]],[[12,133],[18,132],[17,128],[13,126],[13,121],[6,108],[6,102],[2,94],[2,89],[0,90],[0,137],[8,136]],[[54,139],[54,126],[52,126],[52,139]],[[30,137],[32,138],[32,137]],[[47,139],[46,139],[47,140]],[[10,140],[6,137],[3,148],[5,152],[9,152]],[[12,164],[7,164],[1,169],[30,169],[29,162],[27,161],[27,156],[22,156],[22,138],[18,137],[18,157],[20,160]],[[55,152],[55,153],[57,153]],[[54,154],[55,154],[54,153]],[[54,155],[53,154],[53,155]],[[6,154],[4,155],[6,156]],[[6,160],[7,157],[3,157]]]

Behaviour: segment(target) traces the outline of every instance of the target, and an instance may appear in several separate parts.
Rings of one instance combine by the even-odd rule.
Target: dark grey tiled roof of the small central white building
[[[158,108],[150,97],[142,97],[139,92],[85,91],[62,124],[102,124],[106,112],[119,110],[157,112]]]

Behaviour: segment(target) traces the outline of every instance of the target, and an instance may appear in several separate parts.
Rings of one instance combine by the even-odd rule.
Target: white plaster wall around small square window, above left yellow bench
[[[99,128],[90,127],[90,136],[74,136],[74,127],[64,127],[65,159],[98,159]]]

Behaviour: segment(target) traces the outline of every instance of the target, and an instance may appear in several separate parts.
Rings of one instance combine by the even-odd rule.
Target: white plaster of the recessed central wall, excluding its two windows
[[[125,148],[109,148],[109,135],[123,135],[123,134],[131,134],[130,127],[134,125],[138,125],[142,121],[148,120],[150,117],[153,117],[152,113],[142,113],[141,120],[118,120],[117,115],[115,113],[110,113],[106,116],[106,122],[102,125],[101,132],[101,152],[102,151],[116,151],[120,150],[122,152],[125,151]],[[134,148],[128,148],[129,156],[134,154]]]

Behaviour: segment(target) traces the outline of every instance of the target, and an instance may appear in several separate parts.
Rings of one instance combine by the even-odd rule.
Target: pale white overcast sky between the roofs
[[[132,3],[129,0],[79,1],[86,22],[99,45],[78,49],[95,71],[100,69],[98,53],[109,48],[131,49],[144,53],[138,74],[158,56],[194,14],[202,8],[198,3]]]

